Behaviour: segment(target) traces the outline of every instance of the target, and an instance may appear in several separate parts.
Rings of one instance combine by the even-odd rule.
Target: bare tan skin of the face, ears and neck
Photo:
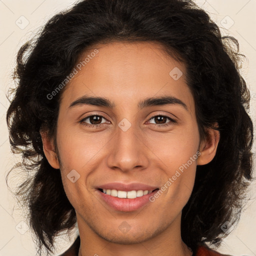
[[[94,46],[99,52],[62,94],[56,136],[59,159],[55,158],[53,139],[41,133],[45,156],[52,167],[60,168],[64,190],[76,212],[79,255],[191,255],[180,236],[181,211],[192,191],[196,165],[212,160],[219,132],[210,129],[209,136],[200,140],[185,66],[166,55],[159,44],[111,42]],[[81,59],[93,49],[84,52]],[[178,80],[169,75],[174,67],[183,73]],[[82,95],[105,97],[116,106],[69,108]],[[187,109],[180,104],[137,107],[140,100],[162,95],[182,100]],[[79,122],[95,114],[103,116],[97,122],[104,123],[100,128]],[[158,120],[159,114],[176,122]],[[131,123],[126,131],[118,126],[123,118]],[[83,122],[96,123],[89,118]],[[168,122],[170,125],[160,126]],[[200,156],[168,189],[138,210],[114,210],[96,195],[95,185],[113,181],[161,187],[198,150]],[[74,183],[67,178],[72,169],[80,174]],[[126,233],[118,228],[123,221],[130,226]]]

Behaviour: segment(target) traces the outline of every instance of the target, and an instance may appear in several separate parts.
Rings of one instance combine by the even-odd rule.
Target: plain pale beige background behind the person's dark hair
[[[251,91],[251,116],[255,127],[256,109],[256,0],[196,0],[220,25],[223,34],[233,35],[240,43],[240,50],[248,61],[242,74]],[[10,72],[18,48],[54,13],[74,3],[73,0],[0,0],[0,256],[31,256],[36,251],[31,233],[26,230],[25,218],[15,203],[5,183],[5,175],[19,158],[10,153],[5,113],[5,97],[13,86]],[[28,120],[29,121],[29,120]],[[255,152],[255,143],[253,146]],[[255,163],[255,161],[254,161]],[[14,178],[14,175],[12,175]],[[18,182],[18,179],[15,179]],[[219,252],[232,255],[256,255],[256,183],[251,185],[251,199],[241,220],[228,238],[223,240]],[[23,234],[22,234],[23,233]],[[63,252],[72,241],[59,239],[58,251]],[[156,256],[156,255],[155,255]]]

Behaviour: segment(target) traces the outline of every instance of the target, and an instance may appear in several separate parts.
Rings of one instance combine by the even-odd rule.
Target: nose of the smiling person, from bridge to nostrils
[[[147,165],[146,151],[139,138],[140,129],[135,123],[123,118],[116,126],[114,137],[110,140],[113,145],[107,157],[110,168],[128,171],[135,166],[145,168]]]

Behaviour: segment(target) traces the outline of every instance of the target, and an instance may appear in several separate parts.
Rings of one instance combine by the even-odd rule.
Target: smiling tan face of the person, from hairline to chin
[[[91,54],[94,48],[98,52]],[[56,137],[60,165],[49,156],[46,142],[45,155],[60,167],[79,229],[117,243],[144,241],[179,227],[196,164],[209,161],[209,156],[202,158],[209,147],[199,140],[182,63],[155,43],[112,42],[94,48],[81,56],[89,55],[89,61],[76,68],[62,94]],[[81,99],[85,96],[102,97],[112,106],[103,100],[92,104]],[[153,97],[165,100],[145,101]],[[113,182],[120,187],[107,186]],[[118,189],[132,183],[140,184]],[[113,190],[104,194],[99,190],[104,187],[158,190],[129,199],[115,197]]]

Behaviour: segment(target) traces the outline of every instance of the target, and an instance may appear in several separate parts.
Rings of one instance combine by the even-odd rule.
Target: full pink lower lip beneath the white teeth
[[[100,190],[97,190],[100,198],[102,198],[109,206],[115,210],[119,211],[133,211],[137,210],[146,203],[150,202],[149,197],[156,193],[158,190],[151,192],[150,194],[145,194],[136,198],[119,198],[117,196],[112,196],[105,194]]]

